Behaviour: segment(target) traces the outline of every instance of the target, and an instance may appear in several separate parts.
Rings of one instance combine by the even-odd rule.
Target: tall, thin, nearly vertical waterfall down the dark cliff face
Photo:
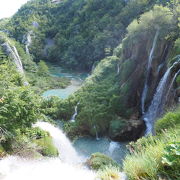
[[[144,114],[145,112],[145,101],[146,101],[146,96],[147,96],[147,91],[148,91],[148,79],[150,76],[150,71],[151,71],[151,65],[152,65],[152,60],[153,60],[153,55],[154,55],[154,50],[157,44],[157,39],[159,36],[159,30],[156,31],[154,40],[153,40],[153,45],[149,54],[149,58],[148,58],[148,66],[147,66],[147,74],[146,74],[146,79],[145,79],[145,84],[144,84],[144,89],[142,92],[142,96],[141,96],[141,111],[142,114]]]

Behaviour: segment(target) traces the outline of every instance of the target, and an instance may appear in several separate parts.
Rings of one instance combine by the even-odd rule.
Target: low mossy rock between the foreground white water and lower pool
[[[107,166],[119,167],[118,163],[116,163],[113,159],[99,152],[92,154],[86,163],[94,170],[101,170]]]

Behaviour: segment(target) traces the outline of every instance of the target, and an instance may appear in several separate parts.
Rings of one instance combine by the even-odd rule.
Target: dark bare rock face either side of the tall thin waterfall
[[[139,118],[142,114],[141,98],[146,78],[148,88],[145,98],[145,110],[147,110],[156,87],[166,71],[168,54],[172,48],[172,42],[158,37],[155,43],[155,50],[152,52],[152,63],[148,74],[148,59],[152,51],[155,33],[142,33],[138,41],[126,39],[125,41],[127,42],[124,42],[126,48],[122,52],[119,75],[120,90],[123,92],[124,87],[129,86],[129,90],[126,92],[126,107],[135,110],[136,118]]]

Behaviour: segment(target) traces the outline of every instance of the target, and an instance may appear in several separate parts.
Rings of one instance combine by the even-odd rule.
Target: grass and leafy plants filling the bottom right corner
[[[130,143],[131,154],[126,156],[123,163],[123,171],[130,179],[178,179],[180,167],[178,116],[179,111],[167,113],[164,118],[157,121],[157,136],[144,137],[136,143]]]

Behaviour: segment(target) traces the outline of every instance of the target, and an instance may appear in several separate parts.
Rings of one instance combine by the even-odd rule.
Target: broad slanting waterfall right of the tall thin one
[[[163,109],[163,100],[164,100],[164,92],[166,91],[166,84],[171,72],[171,66],[164,76],[161,78],[158,87],[156,89],[156,93],[154,94],[151,105],[148,108],[148,111],[144,114],[143,119],[146,123],[146,132],[145,135],[152,134],[154,128],[154,121],[160,115],[161,110]]]

